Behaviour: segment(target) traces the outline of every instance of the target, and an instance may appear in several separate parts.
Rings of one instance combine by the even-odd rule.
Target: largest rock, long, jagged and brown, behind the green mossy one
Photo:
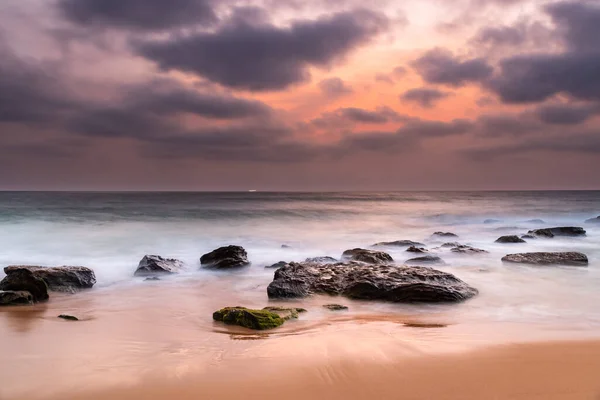
[[[391,302],[456,302],[477,290],[452,274],[426,267],[366,265],[358,262],[290,263],[275,272],[270,298],[311,294],[343,295]]]

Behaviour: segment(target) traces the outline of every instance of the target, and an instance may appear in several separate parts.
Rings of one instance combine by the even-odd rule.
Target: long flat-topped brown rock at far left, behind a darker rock
[[[46,282],[48,290],[74,293],[81,289],[89,289],[96,283],[96,274],[86,267],[36,267],[29,265],[11,265],[4,268],[6,275],[17,271],[29,271]],[[33,293],[32,293],[33,294]],[[33,297],[36,297],[33,294]]]

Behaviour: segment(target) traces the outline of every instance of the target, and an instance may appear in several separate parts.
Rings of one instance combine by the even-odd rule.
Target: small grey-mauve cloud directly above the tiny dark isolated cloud
[[[413,61],[412,67],[425,82],[454,87],[485,81],[493,72],[483,58],[461,59],[441,48],[428,51]]]

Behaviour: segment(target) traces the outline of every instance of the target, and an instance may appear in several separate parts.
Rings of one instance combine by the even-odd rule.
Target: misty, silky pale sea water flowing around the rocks
[[[359,302],[357,313],[436,313],[459,322],[513,322],[565,331],[600,327],[600,192],[396,192],[396,193],[0,193],[0,265],[84,265],[98,283],[92,290],[148,285],[134,278],[145,254],[178,258],[186,271],[153,285],[204,282],[215,304],[230,299],[268,301],[266,286],[278,261],[333,256],[381,241],[410,239],[434,248],[457,241],[482,255],[437,251],[451,272],[479,289],[461,304],[423,306]],[[498,220],[484,223],[487,219]],[[544,222],[529,222],[541,219]],[[498,244],[502,235],[529,229],[583,226],[585,237]],[[435,231],[458,238],[438,239]],[[237,244],[251,266],[235,271],[200,267],[199,257]],[[282,244],[290,246],[282,248]],[[387,248],[401,264],[414,257]],[[580,251],[588,267],[507,265],[515,252]],[[3,272],[0,272],[0,277]],[[233,295],[235,293],[235,296]],[[202,300],[199,300],[202,301]],[[310,301],[310,300],[306,300]],[[341,299],[341,302],[346,301]],[[346,301],[347,302],[347,301]],[[266,304],[265,304],[266,305]],[[319,314],[315,314],[319,315]],[[309,317],[317,318],[317,317]]]

